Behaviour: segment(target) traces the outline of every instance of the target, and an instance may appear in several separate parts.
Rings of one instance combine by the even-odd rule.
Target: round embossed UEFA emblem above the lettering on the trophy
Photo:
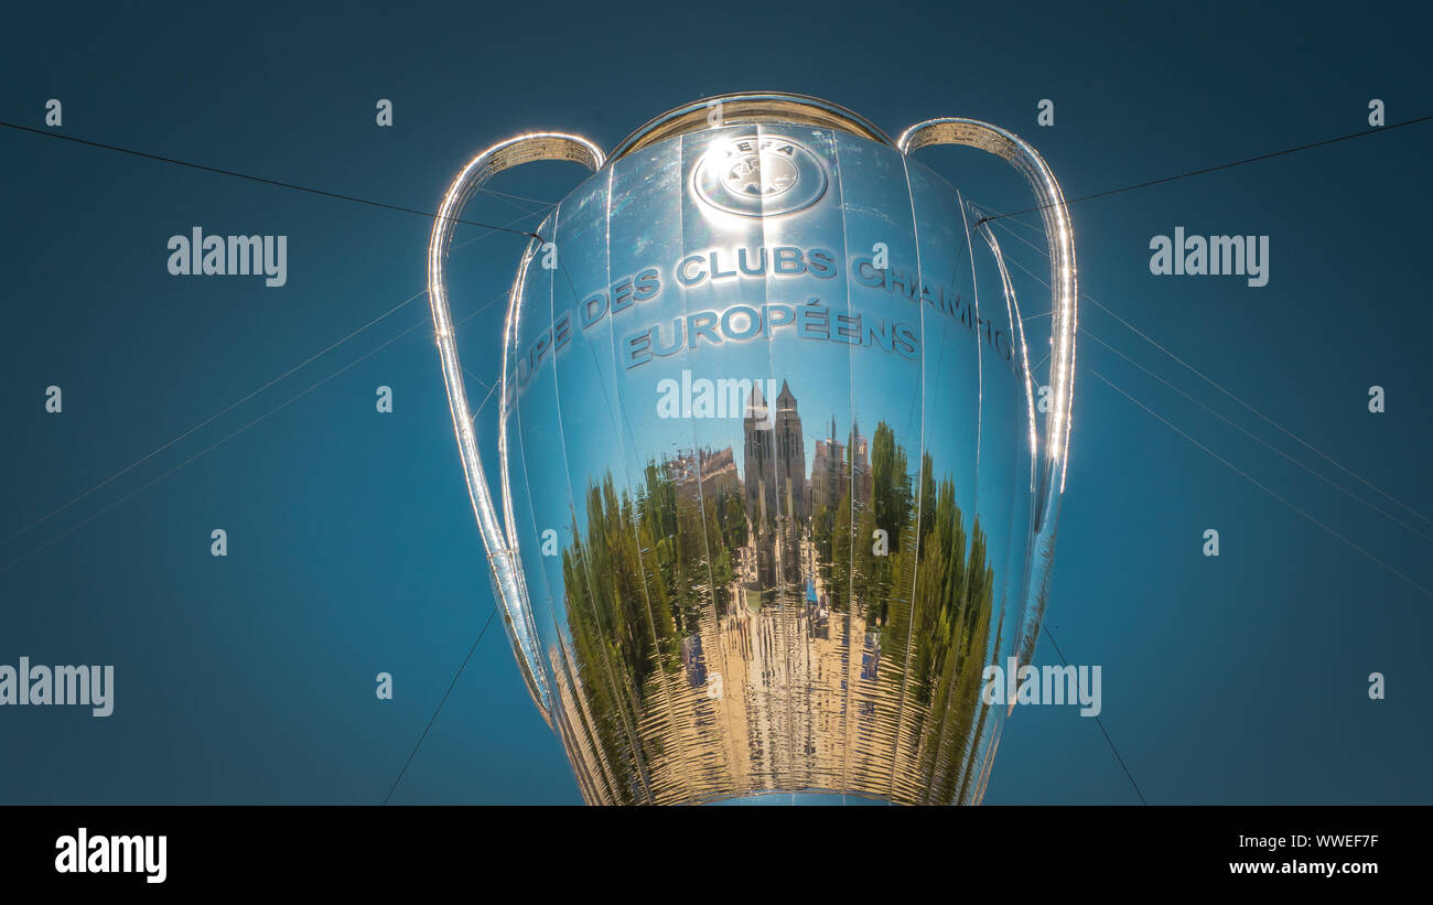
[[[825,168],[791,139],[747,135],[711,145],[692,172],[696,196],[727,213],[777,216],[825,193]]]

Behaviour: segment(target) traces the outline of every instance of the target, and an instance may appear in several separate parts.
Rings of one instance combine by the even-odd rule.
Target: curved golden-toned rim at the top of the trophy
[[[897,147],[886,132],[854,110],[841,105],[791,92],[732,92],[694,100],[656,116],[618,142],[608,156],[608,163],[663,142],[678,135],[709,129],[708,112],[714,105],[722,105],[722,125],[741,126],[748,123],[800,123],[837,129],[857,137]]]

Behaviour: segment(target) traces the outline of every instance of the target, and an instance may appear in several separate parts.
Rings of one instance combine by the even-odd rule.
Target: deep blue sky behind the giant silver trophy
[[[735,13],[668,4],[95,4],[11,14],[0,119],[40,127],[57,97],[67,135],[431,209],[473,152],[520,130],[610,147],[702,96],[792,90],[890,133],[943,115],[1005,125],[1078,198],[1366,129],[1373,97],[1390,123],[1429,115],[1427,13],[1366,9],[1350,23],[1333,6],[791,3],[752,34]],[[380,97],[391,129],[374,125]],[[1053,127],[1036,125],[1043,97]],[[1098,305],[1082,328],[1407,526],[1080,338],[1048,624],[1072,663],[1102,664],[1105,727],[1151,802],[1433,799],[1433,624],[1414,587],[1433,586],[1433,526],[1414,514],[1433,513],[1429,129],[1072,208],[1082,291],[1288,432]],[[0,155],[0,538],[423,289],[420,216],[10,130]],[[1027,203],[997,160],[923,159],[977,202]],[[545,165],[493,188],[552,202],[579,178]],[[506,223],[522,205],[484,198],[466,216]],[[288,235],[288,284],[169,276],[165,243],[193,225]],[[1151,238],[1181,225],[1268,235],[1270,284],[1151,275]],[[1043,278],[1043,258],[999,235]],[[506,289],[523,245],[454,252],[456,316]],[[1040,311],[1045,291],[1015,281]],[[474,374],[496,374],[500,326],[493,305],[460,328]],[[0,710],[0,800],[383,800],[492,609],[430,331],[418,298],[0,547],[0,663],[116,666],[109,719]],[[60,415],[43,410],[50,384]],[[380,384],[391,415],[374,411]],[[216,527],[225,558],[209,556]],[[1036,659],[1053,659],[1046,642]],[[1376,670],[1383,702],[1366,692]],[[393,702],[374,697],[378,672]],[[394,800],[577,800],[496,626]],[[986,800],[1136,799],[1091,720],[1026,707]]]

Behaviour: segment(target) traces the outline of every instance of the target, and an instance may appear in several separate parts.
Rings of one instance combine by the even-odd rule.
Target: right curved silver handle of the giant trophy
[[[964,145],[1003,158],[1017,169],[1035,190],[1045,221],[1045,241],[1050,253],[1050,407],[1045,415],[1045,448],[1037,457],[1029,589],[1032,599],[1022,629],[1020,660],[1029,662],[1036,633],[1045,613],[1049,590],[1049,563],[1055,546],[1055,523],[1060,494],[1065,491],[1065,467],[1069,457],[1070,405],[1075,384],[1075,331],[1078,328],[1078,291],[1075,282],[1075,235],[1070,228],[1065,195],[1055,175],[1035,147],[1013,132],[976,119],[929,119],[907,129],[896,146],[911,153],[927,145]],[[979,223],[977,223],[979,226]],[[989,231],[989,228],[986,228]],[[1009,289],[1000,248],[987,235]],[[1029,361],[1025,364],[1029,368]],[[1029,394],[1029,389],[1026,389]]]

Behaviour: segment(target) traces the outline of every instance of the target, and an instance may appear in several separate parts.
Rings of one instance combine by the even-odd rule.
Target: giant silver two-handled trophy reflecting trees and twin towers
[[[927,145],[1035,189],[1048,392]],[[446,261],[464,202],[532,160],[593,175],[517,266],[497,503]],[[517,136],[449,188],[428,299],[497,601],[586,800],[980,800],[1009,715],[982,676],[1033,650],[1070,428],[1075,249],[1033,147],[969,119],[891,140],[784,93],[679,107],[610,156]]]

